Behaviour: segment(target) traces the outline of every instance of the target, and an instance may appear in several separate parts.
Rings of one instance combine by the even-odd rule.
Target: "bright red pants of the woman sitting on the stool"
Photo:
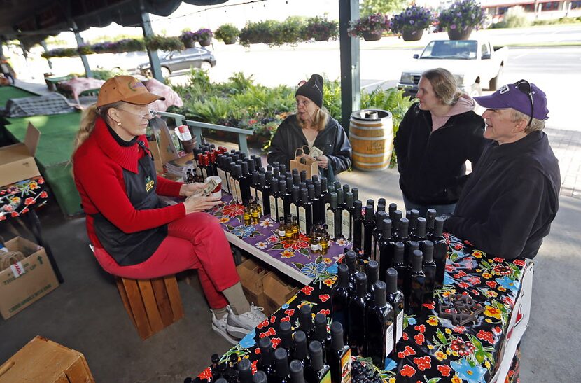
[[[104,249],[94,254],[106,272],[131,279],[151,279],[197,269],[204,294],[212,309],[228,301],[221,293],[240,281],[230,244],[218,220],[206,213],[192,213],[169,223],[168,235],[158,250],[143,263],[120,266]]]

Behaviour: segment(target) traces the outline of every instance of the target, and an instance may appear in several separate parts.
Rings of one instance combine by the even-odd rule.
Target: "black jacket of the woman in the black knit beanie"
[[[288,116],[272,137],[268,163],[283,163],[288,169],[290,160],[295,158],[295,151],[304,145],[308,145],[307,137],[304,137],[301,127],[297,124],[297,116],[295,114]],[[345,130],[335,118],[329,116],[327,126],[318,132],[314,146],[321,149],[329,158],[329,164],[335,174],[351,167],[351,143]]]

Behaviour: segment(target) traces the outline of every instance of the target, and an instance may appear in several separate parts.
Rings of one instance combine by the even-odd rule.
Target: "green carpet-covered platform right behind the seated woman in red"
[[[29,122],[41,131],[41,139],[36,149],[38,167],[64,214],[70,216],[80,213],[82,211],[80,197],[69,164],[73,141],[80,123],[80,113],[6,118],[6,120],[10,124],[6,125],[6,130],[15,141],[24,141]]]

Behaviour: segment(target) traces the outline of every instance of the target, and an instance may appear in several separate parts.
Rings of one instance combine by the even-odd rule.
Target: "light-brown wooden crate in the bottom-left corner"
[[[94,382],[85,356],[52,340],[34,337],[0,366],[0,383]]]

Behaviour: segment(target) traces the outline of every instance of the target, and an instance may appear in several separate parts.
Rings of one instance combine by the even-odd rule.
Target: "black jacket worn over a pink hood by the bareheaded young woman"
[[[453,204],[466,181],[466,160],[472,166],[487,141],[484,120],[473,111],[451,116],[432,132],[430,111],[413,104],[393,140],[398,155],[400,188],[416,204]]]

